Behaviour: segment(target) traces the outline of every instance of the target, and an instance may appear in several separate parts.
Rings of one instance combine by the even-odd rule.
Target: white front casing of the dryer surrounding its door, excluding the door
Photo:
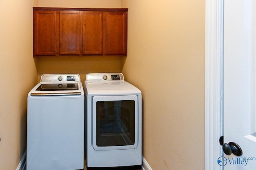
[[[95,150],[93,148],[92,98],[86,98],[86,165],[91,167],[133,166],[142,164],[142,96],[138,96],[138,146],[135,149]]]

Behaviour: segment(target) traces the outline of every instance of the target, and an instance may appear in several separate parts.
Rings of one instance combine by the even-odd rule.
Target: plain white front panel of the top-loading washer
[[[84,168],[84,96],[28,98],[27,170]]]

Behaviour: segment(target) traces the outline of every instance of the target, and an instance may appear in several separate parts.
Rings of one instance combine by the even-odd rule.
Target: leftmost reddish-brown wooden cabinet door
[[[56,11],[34,12],[34,54],[56,55]]]

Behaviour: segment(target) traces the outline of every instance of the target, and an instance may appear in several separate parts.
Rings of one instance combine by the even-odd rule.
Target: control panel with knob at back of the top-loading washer
[[[79,82],[79,74],[43,74],[41,82]]]

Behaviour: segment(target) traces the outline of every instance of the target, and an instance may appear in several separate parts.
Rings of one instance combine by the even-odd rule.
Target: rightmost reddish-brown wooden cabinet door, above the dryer
[[[106,12],[106,54],[126,55],[127,13]]]

